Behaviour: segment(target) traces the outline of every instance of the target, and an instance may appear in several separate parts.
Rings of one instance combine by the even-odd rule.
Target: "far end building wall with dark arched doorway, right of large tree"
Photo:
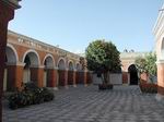
[[[122,84],[138,85],[139,78],[148,81],[147,74],[138,74],[134,61],[137,58],[144,58],[148,52],[126,51],[120,53]]]

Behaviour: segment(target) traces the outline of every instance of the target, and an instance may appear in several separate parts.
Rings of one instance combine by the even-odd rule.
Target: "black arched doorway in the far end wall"
[[[129,68],[128,68],[128,72],[129,72],[129,75],[130,75],[130,85],[138,85],[138,70],[136,68],[134,64],[131,64]]]

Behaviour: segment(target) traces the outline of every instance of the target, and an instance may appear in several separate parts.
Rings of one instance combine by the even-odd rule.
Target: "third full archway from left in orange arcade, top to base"
[[[48,54],[45,57],[44,60],[44,86],[51,87],[52,77],[54,77],[54,58],[52,56]]]

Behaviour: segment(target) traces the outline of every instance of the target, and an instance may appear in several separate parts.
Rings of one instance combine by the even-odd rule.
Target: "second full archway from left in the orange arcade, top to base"
[[[27,51],[24,54],[23,62],[25,63],[23,70],[23,83],[34,82],[37,84],[38,82],[38,65],[39,65],[39,57],[36,51]]]

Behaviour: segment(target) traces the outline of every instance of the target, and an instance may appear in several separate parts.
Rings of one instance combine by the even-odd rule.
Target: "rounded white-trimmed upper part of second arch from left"
[[[35,50],[27,50],[24,56],[23,56],[23,60],[22,62],[25,62],[25,58],[28,56],[30,60],[31,60],[31,65],[33,66],[38,66],[40,64],[40,59],[38,53]]]

